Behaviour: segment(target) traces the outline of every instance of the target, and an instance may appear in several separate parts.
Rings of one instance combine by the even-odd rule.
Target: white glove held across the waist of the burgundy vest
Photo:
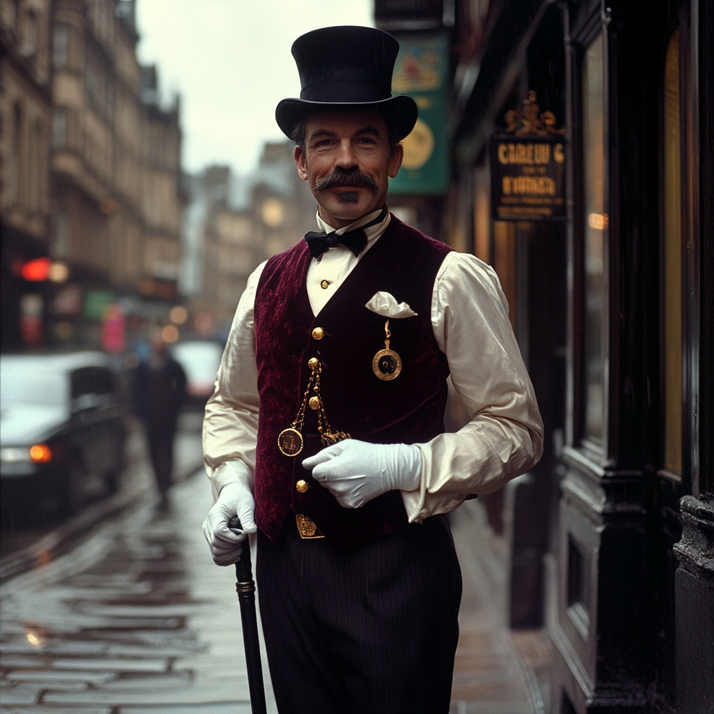
[[[303,461],[344,508],[359,508],[387,491],[415,491],[424,457],[418,446],[344,439]]]

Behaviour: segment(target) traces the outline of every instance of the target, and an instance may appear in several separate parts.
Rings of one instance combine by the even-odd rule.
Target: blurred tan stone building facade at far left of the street
[[[163,109],[156,68],[139,66],[134,0],[1,7],[11,50],[0,94],[11,128],[0,144],[0,217],[3,233],[9,229],[3,290],[15,313],[25,294],[39,296],[41,343],[89,346],[102,306],[122,296],[138,297],[134,305],[176,296],[184,203],[178,100]],[[64,280],[18,275],[38,256],[66,266]],[[18,348],[26,341],[11,312],[4,308],[4,346]]]

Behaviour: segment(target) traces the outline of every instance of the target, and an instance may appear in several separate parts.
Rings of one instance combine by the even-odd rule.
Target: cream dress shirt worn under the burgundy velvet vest
[[[341,235],[378,215],[374,211],[337,231],[319,215],[317,223],[321,231]],[[381,223],[365,229],[367,246],[359,256],[340,243],[310,261],[306,281],[313,314],[326,305],[390,220],[387,213]],[[203,453],[214,498],[226,483],[253,485],[259,407],[253,303],[264,267],[261,263],[248,278],[216,389],[206,404]],[[493,268],[468,253],[448,253],[434,281],[431,324],[471,421],[456,433],[418,444],[425,465],[421,486],[401,492],[410,522],[453,511],[469,493],[497,491],[528,471],[543,453],[543,422]]]

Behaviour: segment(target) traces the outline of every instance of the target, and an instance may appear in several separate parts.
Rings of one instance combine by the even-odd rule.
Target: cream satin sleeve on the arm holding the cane
[[[213,499],[227,483],[241,481],[253,490],[258,438],[258,368],[253,306],[265,263],[248,278],[238,302],[213,396],[203,418],[203,461]]]

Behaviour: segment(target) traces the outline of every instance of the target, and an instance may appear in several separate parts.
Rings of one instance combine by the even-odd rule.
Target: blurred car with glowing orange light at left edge
[[[101,352],[0,357],[4,517],[74,513],[119,485],[126,413]]]

